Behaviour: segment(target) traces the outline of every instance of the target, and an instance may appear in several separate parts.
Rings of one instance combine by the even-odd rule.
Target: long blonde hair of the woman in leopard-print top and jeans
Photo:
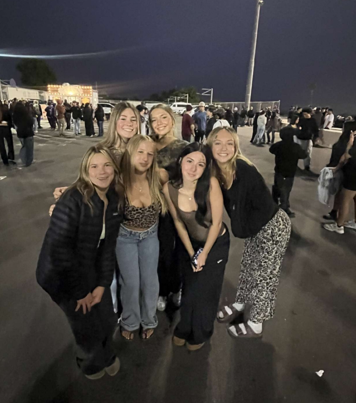
[[[127,193],[133,188],[133,177],[135,168],[132,164],[132,158],[136,153],[139,145],[147,141],[155,145],[154,141],[149,136],[137,135],[134,136],[128,143],[124,155],[120,162],[120,175],[121,183],[123,184],[124,192]],[[160,182],[158,165],[157,165],[157,152],[155,150],[152,165],[147,171],[148,186],[151,193],[152,203],[159,203],[162,207],[162,213],[167,211],[166,201],[162,194],[162,185]]]

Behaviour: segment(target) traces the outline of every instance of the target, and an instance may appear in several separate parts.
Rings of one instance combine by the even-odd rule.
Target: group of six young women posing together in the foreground
[[[180,291],[175,345],[200,349],[216,318],[230,324],[232,337],[261,337],[263,322],[274,314],[290,236],[288,216],[241,154],[233,129],[214,129],[207,145],[188,144],[175,137],[165,105],[150,111],[152,136],[139,133],[139,122],[132,105],[118,104],[76,182],[55,190],[37,267],[39,284],[68,318],[77,363],[89,379],[113,376],[120,367],[112,347],[117,294],[127,340],[139,330],[150,339],[157,302],[164,305]],[[245,248],[236,300],[218,312],[230,246],[224,205]]]

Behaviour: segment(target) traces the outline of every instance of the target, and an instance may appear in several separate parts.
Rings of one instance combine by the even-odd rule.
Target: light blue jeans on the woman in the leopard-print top
[[[124,226],[120,228],[116,256],[121,287],[121,326],[125,330],[134,331],[140,325],[143,329],[153,329],[158,325],[157,230],[158,223],[146,231],[133,231]]]

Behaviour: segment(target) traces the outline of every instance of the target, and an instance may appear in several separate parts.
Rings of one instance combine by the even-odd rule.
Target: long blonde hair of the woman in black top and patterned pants
[[[213,143],[214,140],[217,138],[218,134],[222,131],[225,130],[228,133],[230,133],[233,141],[234,141],[234,146],[235,146],[235,152],[234,155],[232,156],[232,158],[230,159],[230,161],[227,162],[227,173],[228,175],[232,175],[232,177],[234,176],[235,172],[236,172],[236,161],[237,160],[242,160],[245,161],[247,164],[254,166],[253,163],[246,158],[242,152],[241,152],[241,148],[240,148],[240,141],[238,138],[238,135],[236,133],[236,131],[232,128],[232,127],[217,127],[215,128],[210,134],[209,137],[207,139],[207,145],[212,149],[213,148]],[[218,179],[218,181],[220,183],[222,183],[225,187],[228,187],[228,183],[227,183],[227,178],[225,177],[225,175],[223,174],[222,170],[220,169],[217,161],[215,161],[215,159],[213,160],[213,174],[216,176],[216,178]]]

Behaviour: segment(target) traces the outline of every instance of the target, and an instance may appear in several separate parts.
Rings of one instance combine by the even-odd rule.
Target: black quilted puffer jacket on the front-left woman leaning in
[[[93,215],[77,189],[65,192],[53,210],[36,277],[57,303],[82,299],[94,288],[109,287],[112,282],[122,213],[113,189],[108,191],[107,198],[105,240],[101,242],[104,202],[96,193],[91,198]]]

